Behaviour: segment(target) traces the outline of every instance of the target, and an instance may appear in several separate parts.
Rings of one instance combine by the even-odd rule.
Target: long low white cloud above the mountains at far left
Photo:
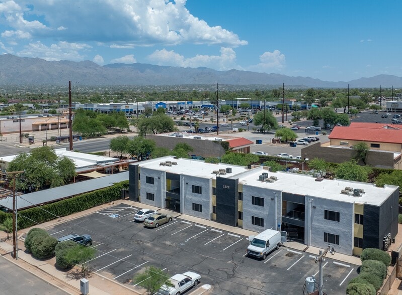
[[[47,61],[71,60],[82,61],[84,56],[79,54],[79,50],[90,49],[87,44],[59,42],[47,46],[40,41],[29,43],[25,48],[18,52],[19,56],[39,57]]]

